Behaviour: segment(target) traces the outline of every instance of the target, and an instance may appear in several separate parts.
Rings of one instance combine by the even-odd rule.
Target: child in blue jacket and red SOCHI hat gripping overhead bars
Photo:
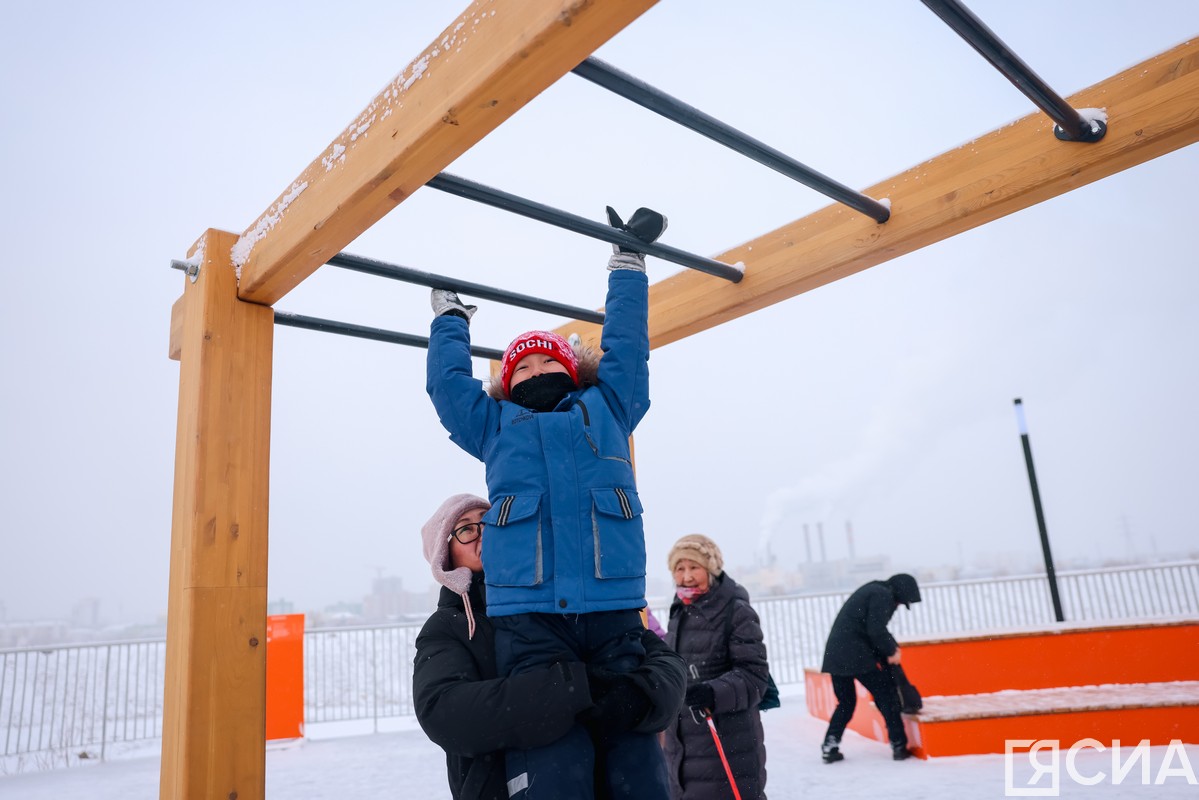
[[[667,227],[649,209],[626,224],[609,207],[608,222],[645,243]],[[645,657],[645,536],[628,439],[650,407],[649,281],[643,253],[613,251],[602,353],[529,331],[484,390],[471,372],[476,308],[434,289],[427,373],[451,440],[486,465],[482,560],[500,674],[583,661],[592,693],[616,690]],[[610,796],[668,798],[652,733],[588,722],[547,747],[508,751],[510,795],[591,798],[598,758]]]

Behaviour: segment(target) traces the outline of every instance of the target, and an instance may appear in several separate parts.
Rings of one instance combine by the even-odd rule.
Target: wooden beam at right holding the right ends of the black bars
[[[1059,142],[1037,112],[863,190],[888,198],[885,224],[833,205],[715,258],[742,261],[730,284],[691,270],[650,287],[650,344],[662,347],[1048,200],[1199,140],[1199,37],[1070,98],[1104,108],[1096,144]],[[1152,198],[1146,198],[1152,203]],[[594,341],[598,327],[561,333]]]

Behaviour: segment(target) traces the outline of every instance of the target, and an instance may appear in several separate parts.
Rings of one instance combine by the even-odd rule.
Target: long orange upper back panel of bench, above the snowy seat
[[[1037,631],[903,645],[921,694],[1199,679],[1199,625]]]

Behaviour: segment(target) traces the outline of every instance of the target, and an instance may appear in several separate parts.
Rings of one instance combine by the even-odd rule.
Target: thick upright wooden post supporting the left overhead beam
[[[273,311],[237,300],[235,234],[191,258],[167,618],[163,799],[258,800],[266,760],[266,522]]]

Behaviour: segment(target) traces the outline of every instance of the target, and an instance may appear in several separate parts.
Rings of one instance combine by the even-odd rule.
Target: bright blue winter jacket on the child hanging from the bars
[[[650,407],[649,283],[614,270],[597,383],[553,410],[496,401],[471,374],[470,330],[442,315],[427,390],[450,439],[487,468],[487,613],[645,606],[645,536],[628,438]]]

